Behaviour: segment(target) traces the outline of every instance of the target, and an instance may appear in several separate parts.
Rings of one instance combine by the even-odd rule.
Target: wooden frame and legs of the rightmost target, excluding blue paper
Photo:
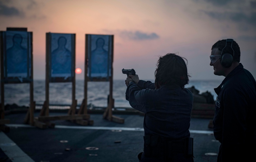
[[[110,37],[110,52],[111,52],[111,74],[108,78],[102,78],[102,77],[88,77],[88,64],[89,64],[89,58],[88,55],[90,53],[90,34],[86,34],[86,46],[85,46],[85,68],[84,68],[84,99],[82,101],[81,107],[79,112],[87,113],[87,83],[88,81],[109,81],[109,96],[108,96],[108,106],[106,107],[104,113],[103,113],[103,119],[113,121],[116,123],[124,123],[124,119],[118,116],[112,115],[112,108],[114,107],[114,99],[113,99],[113,52],[114,52],[114,36],[111,35]]]

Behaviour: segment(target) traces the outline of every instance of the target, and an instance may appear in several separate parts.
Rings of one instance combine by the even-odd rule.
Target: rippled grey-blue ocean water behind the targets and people
[[[218,87],[220,80],[191,80],[185,88],[194,86],[199,90],[199,94],[206,91],[214,96],[214,88]],[[87,104],[95,107],[106,107],[108,104],[109,82],[88,82]],[[129,102],[125,100],[126,85],[124,80],[113,80],[114,107],[131,108]],[[78,106],[84,98],[84,81],[76,80],[76,97]],[[19,106],[29,106],[29,83],[4,84],[4,102],[6,104],[17,104]],[[40,109],[45,101],[45,81],[34,80],[34,101],[36,109]],[[57,109],[67,109],[72,103],[72,83],[49,83],[49,104],[60,105]],[[65,107],[66,106],[66,107]],[[51,107],[50,107],[51,109]]]

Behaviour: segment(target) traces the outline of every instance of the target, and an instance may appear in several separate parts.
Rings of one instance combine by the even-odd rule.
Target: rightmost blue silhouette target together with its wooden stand
[[[108,96],[108,106],[104,111],[103,118],[109,121],[124,123],[124,119],[112,115],[112,108],[114,107],[114,99],[113,99],[113,48],[114,48],[114,35],[95,35],[95,34],[86,34],[85,35],[85,66],[84,66],[84,99],[79,109],[80,114],[87,114],[87,86],[88,81],[109,81],[109,96]],[[100,44],[99,41],[103,41],[103,44]],[[99,50],[93,48],[93,44],[97,44],[105,49]],[[105,56],[99,56],[98,62],[93,60],[93,55],[98,55],[99,53],[105,53]],[[106,58],[108,58],[106,60]],[[101,61],[103,60],[103,61]],[[105,63],[105,64],[104,64]],[[97,67],[101,67],[99,71],[104,68],[107,68],[106,71],[103,72],[95,72],[93,73],[93,66],[97,65]],[[93,75],[94,74],[94,75]]]

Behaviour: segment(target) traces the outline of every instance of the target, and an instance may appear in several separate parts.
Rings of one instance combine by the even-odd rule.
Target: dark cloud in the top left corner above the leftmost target
[[[20,16],[20,17],[23,17],[24,13],[19,11],[15,7],[8,7],[5,4],[0,2],[0,15],[7,16],[7,17],[10,17],[10,16]]]

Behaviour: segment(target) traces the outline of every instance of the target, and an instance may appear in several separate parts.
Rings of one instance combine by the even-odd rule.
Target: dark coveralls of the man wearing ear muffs
[[[214,89],[213,131],[221,143],[217,162],[256,161],[256,82],[240,63]]]

